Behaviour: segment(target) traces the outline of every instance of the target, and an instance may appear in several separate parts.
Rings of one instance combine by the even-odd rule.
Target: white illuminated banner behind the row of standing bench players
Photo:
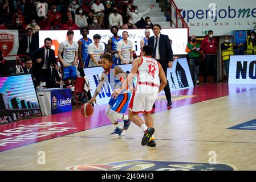
[[[123,31],[128,31],[128,39],[133,43],[133,50],[137,55],[140,55],[140,40],[144,38],[145,29],[129,29],[129,30],[119,30],[118,35],[121,36]],[[113,36],[110,30],[90,30],[88,38],[92,39],[93,36],[99,34],[101,36],[101,44],[103,49],[107,48],[108,40]],[[174,55],[184,55],[186,54],[185,48],[188,43],[188,29],[187,28],[162,28],[161,34],[169,36],[172,40],[172,51]],[[153,36],[153,31],[151,30],[151,36]],[[67,30],[40,30],[39,31],[39,47],[44,46],[44,39],[52,39],[52,49],[55,50],[55,56],[58,55],[59,44],[64,40],[67,40]],[[82,38],[80,30],[74,30],[74,41],[78,42]]]

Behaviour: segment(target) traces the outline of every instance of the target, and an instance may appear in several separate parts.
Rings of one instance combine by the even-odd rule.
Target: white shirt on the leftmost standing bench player
[[[78,51],[78,43],[73,41],[70,45],[67,40],[59,45],[59,51],[63,52],[63,61],[68,65],[72,65],[75,59],[75,51]]]

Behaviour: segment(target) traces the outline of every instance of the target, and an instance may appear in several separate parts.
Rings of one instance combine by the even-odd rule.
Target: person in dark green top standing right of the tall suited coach
[[[201,55],[200,55],[200,43],[197,43],[196,36],[192,35],[191,41],[186,45],[186,52],[188,52],[189,56],[189,64],[194,65],[195,72],[194,78],[196,79],[196,83],[199,84],[199,69],[201,64]]]

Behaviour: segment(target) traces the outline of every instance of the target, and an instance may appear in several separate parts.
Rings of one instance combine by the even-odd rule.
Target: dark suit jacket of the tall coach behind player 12
[[[155,36],[151,36],[148,39],[148,45],[155,46]],[[160,34],[159,38],[159,54],[161,59],[162,68],[168,67],[168,62],[172,61],[173,53],[172,46],[170,45],[170,39],[168,35]]]

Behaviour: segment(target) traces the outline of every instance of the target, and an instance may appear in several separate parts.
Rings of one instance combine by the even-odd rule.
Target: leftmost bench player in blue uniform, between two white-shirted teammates
[[[88,64],[90,61],[90,56],[88,56],[88,46],[92,43],[92,40],[87,37],[89,34],[89,28],[83,27],[80,29],[80,34],[83,36],[78,41],[78,57],[81,68],[88,68]],[[82,71],[83,72],[83,71]],[[84,73],[83,73],[84,75]]]

